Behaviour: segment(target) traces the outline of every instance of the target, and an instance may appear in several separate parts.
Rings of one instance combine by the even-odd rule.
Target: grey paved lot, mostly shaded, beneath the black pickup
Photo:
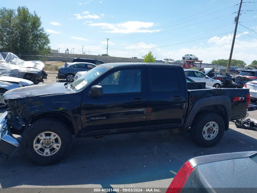
[[[56,74],[48,73],[45,84],[56,82],[55,77]],[[250,118],[257,119],[257,111],[248,113]],[[232,122],[222,140],[210,148],[197,146],[188,133],[173,134],[170,130],[79,138],[73,141],[68,157],[53,166],[35,166],[21,156],[18,149],[7,161],[0,160],[0,187],[33,187],[39,191],[54,187],[58,192],[68,188],[167,188],[187,159],[256,151],[256,139],[256,131],[238,129]],[[28,192],[28,189],[19,189],[22,190]]]

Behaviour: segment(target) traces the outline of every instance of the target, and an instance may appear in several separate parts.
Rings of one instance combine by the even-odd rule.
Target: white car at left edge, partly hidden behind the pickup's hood
[[[0,77],[0,109],[6,109],[7,108],[6,100],[3,97],[3,94],[6,91],[9,91],[9,90],[14,89],[14,88],[33,85],[33,84],[34,83],[32,81],[22,79],[22,78],[7,77],[7,76]]]

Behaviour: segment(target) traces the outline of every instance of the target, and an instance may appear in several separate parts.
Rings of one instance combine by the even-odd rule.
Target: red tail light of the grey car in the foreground
[[[166,193],[180,193],[192,171],[193,167],[186,161],[172,180]]]

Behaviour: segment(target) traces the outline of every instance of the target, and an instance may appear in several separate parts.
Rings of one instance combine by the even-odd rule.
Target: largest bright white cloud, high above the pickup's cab
[[[152,22],[127,21],[122,23],[90,23],[89,26],[98,26],[102,29],[108,29],[104,32],[109,33],[135,33],[135,32],[158,32],[160,30],[142,30],[154,26]]]

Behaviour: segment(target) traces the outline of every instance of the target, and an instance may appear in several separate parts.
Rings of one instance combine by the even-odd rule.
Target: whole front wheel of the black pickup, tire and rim
[[[40,119],[26,128],[21,149],[26,158],[37,165],[48,166],[60,162],[70,151],[72,136],[61,121]]]

